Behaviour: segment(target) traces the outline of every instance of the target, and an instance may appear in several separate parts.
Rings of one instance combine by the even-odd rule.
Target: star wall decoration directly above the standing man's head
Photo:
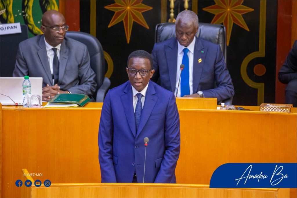
[[[142,0],[141,1],[119,0],[115,2],[116,2],[115,4],[110,4],[104,7],[105,9],[115,12],[108,25],[108,28],[123,21],[127,43],[130,42],[133,21],[149,29],[149,26],[146,23],[146,20],[144,19],[141,13],[153,9],[152,7],[142,4],[141,3]]]

